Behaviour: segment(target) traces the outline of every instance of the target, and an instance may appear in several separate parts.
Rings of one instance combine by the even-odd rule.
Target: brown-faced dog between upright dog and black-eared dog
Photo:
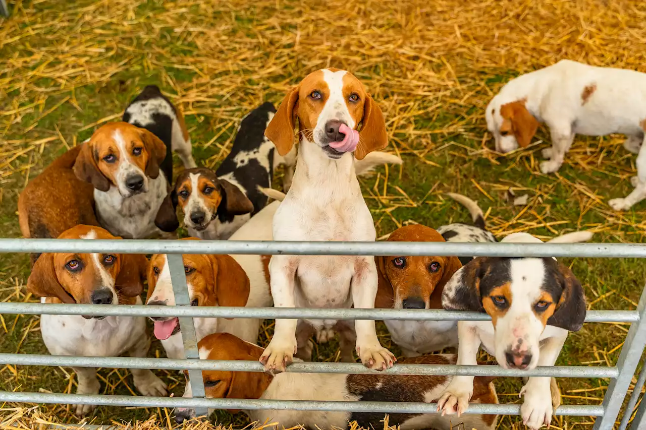
[[[407,225],[392,232],[388,241],[444,242],[444,238],[424,225]],[[442,309],[444,285],[462,267],[455,256],[377,256],[375,261],[379,272],[375,307],[386,309]],[[457,347],[454,321],[384,323],[406,357]]]

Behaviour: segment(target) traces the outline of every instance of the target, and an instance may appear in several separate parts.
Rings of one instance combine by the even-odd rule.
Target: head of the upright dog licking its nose
[[[285,96],[265,131],[282,156],[294,145],[296,119],[299,134],[332,159],[352,151],[357,159],[363,159],[388,145],[379,106],[361,81],[346,70],[312,72]]]

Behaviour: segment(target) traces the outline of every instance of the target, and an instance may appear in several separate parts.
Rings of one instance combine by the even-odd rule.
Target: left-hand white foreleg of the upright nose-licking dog
[[[269,261],[271,296],[275,307],[296,307],[294,284],[297,269],[298,258],[294,256],[275,255]],[[274,336],[260,356],[260,362],[264,364],[267,373],[280,373],[293,361],[298,347],[297,322],[298,320],[276,320]]]

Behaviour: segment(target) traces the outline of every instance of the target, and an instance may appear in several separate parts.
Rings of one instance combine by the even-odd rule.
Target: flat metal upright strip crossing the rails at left
[[[191,307],[191,297],[189,288],[186,285],[186,274],[184,272],[184,261],[181,254],[168,254],[168,269],[171,273],[172,292],[175,296],[175,304],[182,307]],[[200,351],[198,349],[198,338],[195,334],[195,325],[193,318],[178,318],[180,322],[180,335],[184,347],[184,357],[200,360]],[[189,370],[189,384],[191,384],[191,393],[196,398],[204,398],[204,382],[202,380],[202,371]],[[209,415],[208,409],[199,407],[195,410],[197,416]]]

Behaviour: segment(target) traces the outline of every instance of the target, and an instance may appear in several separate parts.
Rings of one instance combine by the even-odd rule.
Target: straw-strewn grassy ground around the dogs
[[[635,174],[623,136],[578,137],[557,174],[539,172],[544,128],[532,145],[501,156],[486,133],[483,109],[511,77],[569,58],[646,71],[646,4],[637,0],[517,2],[499,0],[330,1],[9,1],[0,19],[0,231],[20,236],[16,201],[66,148],[77,145],[147,84],[159,85],[185,112],[198,165],[227,155],[240,119],[265,100],[276,105],[312,70],[339,67],[365,83],[384,112],[390,145],[402,167],[362,179],[378,236],[406,223],[468,221],[444,197],[479,201],[499,237],[528,231],[547,238],[578,229],[594,241],[643,242],[646,202],[615,212],[610,198],[627,195]],[[176,163],[177,165],[177,163]],[[508,189],[529,194],[514,207]],[[635,309],[645,279],[636,259],[563,259],[585,286],[589,309]],[[26,295],[26,254],[0,257],[0,298]],[[3,353],[47,350],[39,318],[1,316]],[[271,324],[266,324],[271,333]],[[613,365],[627,324],[587,324],[571,334],[558,364]],[[390,346],[383,325],[380,338]],[[263,344],[266,345],[266,336]],[[318,348],[336,360],[337,344]],[[393,347],[396,352],[397,348]],[[163,355],[154,343],[151,356]],[[158,371],[176,395],[182,378]],[[122,369],[103,369],[103,393],[129,394]],[[69,369],[0,370],[0,388],[74,391]],[[561,379],[565,404],[599,404],[608,381]],[[518,402],[521,382],[499,378],[501,402]],[[78,421],[65,406],[45,407]],[[164,411],[100,407],[95,422],[147,418]],[[242,424],[218,413],[225,424]],[[589,428],[592,418],[556,418],[560,428]],[[501,428],[523,428],[505,416]]]

